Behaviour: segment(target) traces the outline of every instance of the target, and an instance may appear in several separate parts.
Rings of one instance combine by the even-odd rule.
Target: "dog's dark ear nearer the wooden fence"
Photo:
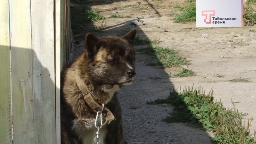
[[[84,42],[85,49],[87,51],[86,55],[88,58],[91,58],[100,48],[100,40],[92,33],[88,32],[85,36]]]

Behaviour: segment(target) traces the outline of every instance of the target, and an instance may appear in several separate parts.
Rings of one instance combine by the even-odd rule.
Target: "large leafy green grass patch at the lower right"
[[[236,108],[226,109],[222,102],[214,102],[213,90],[206,94],[201,88],[184,88],[182,92],[171,92],[166,99],[157,99],[147,104],[172,104],[172,112],[163,121],[187,122],[196,124],[204,130],[212,131],[215,136],[211,140],[216,144],[256,144],[254,131],[250,135],[249,124],[242,124],[242,114]]]

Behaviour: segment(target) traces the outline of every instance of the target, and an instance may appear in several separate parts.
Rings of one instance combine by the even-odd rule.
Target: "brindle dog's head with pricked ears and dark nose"
[[[91,33],[86,34],[87,69],[94,81],[109,85],[128,85],[135,81],[135,35],[136,29],[122,38],[97,38]]]

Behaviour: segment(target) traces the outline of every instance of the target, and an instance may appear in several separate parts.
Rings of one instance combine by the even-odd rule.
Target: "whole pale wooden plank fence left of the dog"
[[[69,0],[1,0],[0,9],[0,143],[60,144]]]

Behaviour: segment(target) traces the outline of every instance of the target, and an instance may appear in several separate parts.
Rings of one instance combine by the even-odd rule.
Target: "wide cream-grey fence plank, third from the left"
[[[31,0],[34,139],[56,143],[54,0]]]

